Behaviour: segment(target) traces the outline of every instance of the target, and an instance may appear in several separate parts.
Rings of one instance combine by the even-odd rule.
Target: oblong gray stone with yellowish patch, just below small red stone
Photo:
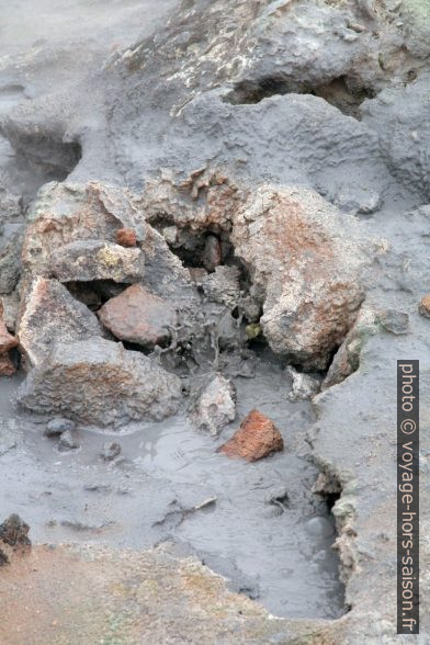
[[[60,282],[136,282],[144,276],[145,258],[137,248],[126,249],[100,240],[78,240],[53,251],[50,270]]]

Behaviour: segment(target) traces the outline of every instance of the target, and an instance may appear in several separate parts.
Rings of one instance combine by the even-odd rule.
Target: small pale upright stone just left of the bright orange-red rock
[[[217,437],[236,416],[236,389],[230,381],[216,374],[195,396],[189,419],[199,430]]]

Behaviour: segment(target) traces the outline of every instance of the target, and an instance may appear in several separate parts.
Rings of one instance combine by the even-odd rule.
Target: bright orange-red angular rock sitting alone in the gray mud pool
[[[229,457],[257,462],[283,448],[281,432],[273,421],[258,410],[252,410],[231,439],[219,448],[219,452]]]

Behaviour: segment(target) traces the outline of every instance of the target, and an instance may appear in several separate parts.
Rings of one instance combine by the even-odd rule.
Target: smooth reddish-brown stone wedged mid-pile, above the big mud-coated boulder
[[[167,301],[142,284],[134,284],[108,301],[99,310],[99,318],[116,338],[154,347],[170,337],[176,312]]]

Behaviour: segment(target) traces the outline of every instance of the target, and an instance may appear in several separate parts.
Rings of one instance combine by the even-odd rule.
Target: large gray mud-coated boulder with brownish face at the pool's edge
[[[18,392],[21,406],[95,426],[160,420],[180,405],[181,382],[140,352],[92,338],[58,343]]]

